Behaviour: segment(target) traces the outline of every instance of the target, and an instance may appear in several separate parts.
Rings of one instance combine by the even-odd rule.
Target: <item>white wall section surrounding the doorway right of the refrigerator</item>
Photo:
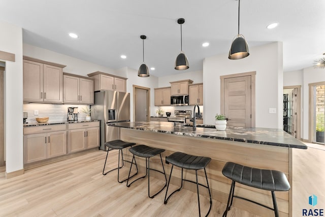
[[[158,78],[155,76],[149,76],[146,78],[138,77],[138,69],[124,67],[124,71],[127,72],[127,92],[130,93],[131,103],[131,121],[133,121],[133,85],[150,88],[150,116],[155,116],[154,106],[154,88],[158,87]]]

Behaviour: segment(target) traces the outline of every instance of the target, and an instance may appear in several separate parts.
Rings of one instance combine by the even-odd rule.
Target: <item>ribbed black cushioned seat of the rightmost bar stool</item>
[[[257,169],[243,166],[233,162],[227,162],[222,174],[237,183],[268,190],[268,191],[288,191],[290,184],[283,172],[269,169]]]

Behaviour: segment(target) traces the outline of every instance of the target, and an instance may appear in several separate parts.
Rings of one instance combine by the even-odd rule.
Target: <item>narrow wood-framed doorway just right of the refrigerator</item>
[[[147,122],[150,118],[150,88],[133,85],[134,121]]]

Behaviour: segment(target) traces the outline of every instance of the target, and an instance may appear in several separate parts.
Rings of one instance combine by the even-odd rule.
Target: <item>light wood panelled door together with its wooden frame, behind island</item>
[[[255,127],[256,72],[220,76],[221,114],[228,126]]]

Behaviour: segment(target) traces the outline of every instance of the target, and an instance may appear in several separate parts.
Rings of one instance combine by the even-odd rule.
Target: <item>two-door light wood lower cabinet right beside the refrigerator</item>
[[[100,146],[100,122],[69,124],[68,152],[74,153]]]

